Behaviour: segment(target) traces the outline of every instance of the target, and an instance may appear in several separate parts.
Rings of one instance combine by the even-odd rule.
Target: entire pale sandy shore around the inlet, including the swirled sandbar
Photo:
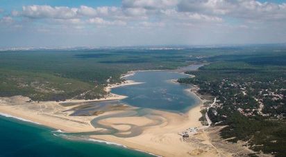
[[[132,75],[132,73],[129,73]],[[112,84],[106,87],[110,92],[112,88],[142,82],[127,80],[121,84]],[[193,94],[193,93],[192,93]],[[228,156],[227,152],[218,151],[211,143],[208,133],[205,133],[205,126],[202,126],[201,107],[203,100],[192,107],[186,113],[173,113],[169,111],[159,111],[149,109],[149,116],[120,116],[117,113],[135,112],[134,107],[119,107],[117,110],[110,109],[94,116],[70,116],[75,107],[81,107],[88,102],[103,100],[119,100],[126,98],[123,95],[109,93],[106,98],[100,100],[67,100],[65,102],[28,102],[29,98],[14,96],[11,98],[0,98],[0,113],[24,118],[33,122],[54,129],[66,132],[87,132],[104,130],[104,128],[94,128],[91,121],[94,118],[101,118],[98,123],[106,128],[117,130],[114,135],[93,135],[90,138],[96,140],[106,140],[125,145],[131,149],[146,151],[158,156]],[[63,106],[62,103],[72,104]],[[127,114],[128,115],[128,114]],[[189,132],[189,138],[183,138],[182,133]],[[222,153],[223,152],[223,153]]]

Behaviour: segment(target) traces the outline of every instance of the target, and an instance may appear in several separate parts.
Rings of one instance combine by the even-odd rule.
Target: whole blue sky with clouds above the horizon
[[[286,0],[0,0],[0,48],[286,43]]]

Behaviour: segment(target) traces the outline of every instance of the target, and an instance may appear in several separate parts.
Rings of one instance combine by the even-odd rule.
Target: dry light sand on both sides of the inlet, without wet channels
[[[123,75],[122,78],[134,75],[134,73],[135,71],[128,72],[126,75]],[[115,95],[110,93],[111,89],[119,86],[142,83],[143,82],[126,80],[125,82],[121,82],[121,84],[109,84],[106,87],[106,91],[109,93],[107,98],[102,98],[99,100],[66,100],[65,102],[82,103],[124,99],[126,98],[124,95]],[[196,95],[196,93],[194,93],[192,90],[190,90],[190,92]],[[205,147],[205,145],[210,144],[208,136],[206,136],[202,130],[198,131],[199,133],[194,134],[192,138],[201,139],[206,144],[185,142],[182,136],[178,135],[179,132],[190,127],[203,127],[199,121],[199,118],[201,117],[200,111],[204,100],[202,100],[199,96],[198,98],[201,100],[201,102],[190,108],[189,111],[184,114],[152,110],[153,113],[162,119],[162,124],[144,128],[144,131],[139,136],[131,138],[118,138],[112,135],[94,135],[90,136],[90,138],[115,142],[131,149],[144,151],[150,154],[158,154],[160,156],[192,156],[192,154],[196,152],[201,145]],[[71,109],[75,106],[62,107],[62,105],[60,105],[62,102],[26,102],[27,98],[21,96],[17,96],[15,101],[9,99],[10,98],[1,98],[0,112],[8,113],[10,116],[23,118],[24,120],[36,122],[54,129],[60,129],[65,132],[87,132],[96,130],[94,127],[92,127],[90,121],[97,116],[69,116],[69,112],[65,114],[62,113],[62,111]],[[29,109],[29,106],[35,105],[37,105],[38,109]],[[42,111],[42,106],[44,106],[47,111]],[[108,111],[99,116],[108,116],[112,113],[117,113],[117,111]],[[115,129],[124,130],[124,128],[126,129],[126,126],[130,125],[133,120],[135,120],[135,117],[107,118],[107,120],[103,121],[103,123],[109,124],[114,128],[117,126]],[[137,118],[135,121],[135,124],[138,126],[144,126],[144,124],[154,122],[151,118]],[[121,124],[123,122],[126,124],[125,127]],[[121,124],[121,127],[119,124]],[[211,151],[203,151],[199,154],[200,156],[215,156],[217,155],[217,152],[211,149]]]

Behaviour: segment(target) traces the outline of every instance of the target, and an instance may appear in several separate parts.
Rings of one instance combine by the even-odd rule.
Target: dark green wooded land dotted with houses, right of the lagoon
[[[222,138],[243,140],[255,151],[285,156],[286,48],[275,49],[208,57],[211,64],[187,72],[196,77],[178,82],[199,85],[199,93],[217,98],[208,116],[215,125],[227,125]]]

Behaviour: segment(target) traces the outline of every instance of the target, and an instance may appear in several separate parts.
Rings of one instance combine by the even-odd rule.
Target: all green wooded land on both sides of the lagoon
[[[0,52],[0,96],[32,100],[102,98],[108,83],[132,70],[174,69],[209,63],[181,83],[217,98],[208,110],[223,138],[243,140],[255,151],[286,154],[286,47],[237,46],[151,50],[17,50]],[[207,113],[206,110],[202,111]],[[205,123],[205,117],[201,118]],[[254,154],[252,154],[254,155]]]

